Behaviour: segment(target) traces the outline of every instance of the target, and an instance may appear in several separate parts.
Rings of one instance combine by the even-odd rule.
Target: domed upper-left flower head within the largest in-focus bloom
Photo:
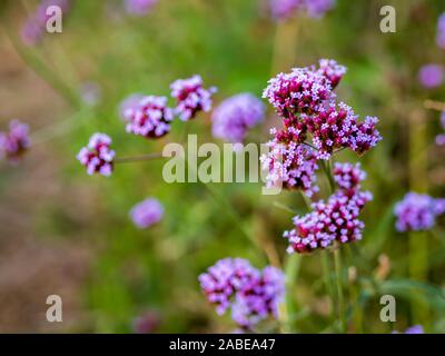
[[[294,68],[290,73],[279,73],[268,81],[263,92],[284,118],[298,113],[315,113],[326,100],[335,97],[330,81],[310,68]]]

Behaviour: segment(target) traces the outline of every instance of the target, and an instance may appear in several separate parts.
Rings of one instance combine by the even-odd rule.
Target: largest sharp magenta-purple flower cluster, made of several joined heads
[[[382,140],[377,118],[359,121],[350,107],[335,101],[334,89],[345,73],[345,67],[323,59],[318,67],[295,68],[269,80],[263,96],[284,127],[271,130],[270,150],[261,157],[268,186],[280,181],[285,188],[300,188],[310,197],[318,190],[314,185],[317,160],[328,160],[344,148],[362,155]]]

